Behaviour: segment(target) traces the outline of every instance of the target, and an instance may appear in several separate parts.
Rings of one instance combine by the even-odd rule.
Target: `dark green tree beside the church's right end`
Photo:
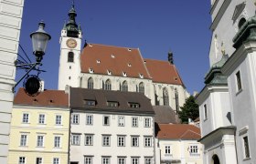
[[[186,99],[186,102],[181,111],[178,112],[178,116],[182,123],[188,123],[188,118],[195,120],[199,117],[199,108],[195,101],[195,97],[190,96]]]

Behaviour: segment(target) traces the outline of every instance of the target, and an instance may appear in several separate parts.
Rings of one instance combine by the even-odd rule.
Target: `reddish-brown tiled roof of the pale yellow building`
[[[29,97],[24,88],[19,88],[14,100],[15,105],[69,107],[69,95],[62,90],[44,90],[36,97]]]

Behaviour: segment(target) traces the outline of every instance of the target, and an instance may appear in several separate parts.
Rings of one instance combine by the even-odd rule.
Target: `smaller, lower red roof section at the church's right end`
[[[163,60],[144,59],[144,61],[154,82],[183,85],[175,65]]]

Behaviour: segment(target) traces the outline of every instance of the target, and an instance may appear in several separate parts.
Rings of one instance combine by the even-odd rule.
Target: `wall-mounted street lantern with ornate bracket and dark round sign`
[[[26,80],[24,81],[24,87],[25,91],[28,95],[34,96],[37,94],[39,88],[40,88],[40,79],[33,75],[33,76],[28,76],[28,73],[32,70],[36,70],[37,72],[42,71],[37,68],[37,66],[41,66],[43,56],[45,55],[46,47],[48,44],[48,40],[50,40],[51,36],[48,35],[48,33],[44,30],[45,23],[40,22],[38,24],[38,29],[36,32],[32,33],[30,35],[32,39],[32,45],[33,45],[33,54],[36,56],[36,63],[27,63],[27,62],[22,62],[20,60],[16,60],[16,67],[25,69],[27,73],[21,77],[17,82],[15,87],[25,78]],[[15,88],[14,87],[14,88]]]

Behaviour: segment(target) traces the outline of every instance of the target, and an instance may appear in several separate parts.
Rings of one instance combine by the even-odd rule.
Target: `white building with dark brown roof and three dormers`
[[[144,95],[70,87],[70,108],[71,164],[155,163],[155,113]]]

